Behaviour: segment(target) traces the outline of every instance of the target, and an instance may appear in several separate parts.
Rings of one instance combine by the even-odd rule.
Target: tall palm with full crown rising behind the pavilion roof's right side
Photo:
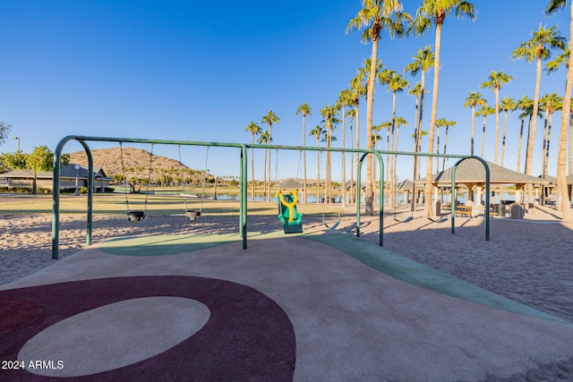
[[[522,43],[511,54],[512,58],[525,58],[527,63],[535,60],[535,93],[534,93],[534,115],[531,123],[530,139],[527,142],[526,153],[526,174],[531,175],[533,170],[534,159],[534,146],[535,146],[535,130],[537,126],[537,118],[535,117],[538,112],[539,101],[539,88],[541,86],[541,69],[542,61],[546,61],[551,57],[552,49],[565,47],[565,38],[559,35],[559,30],[556,27],[549,29],[539,26],[539,30],[534,30],[532,38]],[[533,202],[533,187],[527,187],[527,195],[529,202]]]

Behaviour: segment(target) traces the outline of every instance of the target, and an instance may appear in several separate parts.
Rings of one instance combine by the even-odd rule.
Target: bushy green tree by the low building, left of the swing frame
[[[65,166],[70,162],[70,156],[64,154],[61,160],[62,165]],[[23,170],[32,175],[32,195],[36,195],[38,191],[38,173],[54,170],[54,153],[47,149],[47,146],[35,147],[31,154],[25,154],[21,151],[4,154],[2,161],[13,170]]]

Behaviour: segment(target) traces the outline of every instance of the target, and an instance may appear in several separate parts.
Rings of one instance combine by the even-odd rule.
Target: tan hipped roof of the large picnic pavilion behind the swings
[[[486,161],[490,167],[490,183],[492,184],[533,184],[533,183],[550,183],[547,179],[540,179],[536,176],[517,173],[502,166],[494,165]],[[434,185],[447,186],[451,184],[451,174],[453,166],[432,175]],[[425,178],[416,181],[416,183],[425,183]],[[464,160],[459,164],[456,170],[456,183],[485,183],[485,169],[482,163],[474,158]]]

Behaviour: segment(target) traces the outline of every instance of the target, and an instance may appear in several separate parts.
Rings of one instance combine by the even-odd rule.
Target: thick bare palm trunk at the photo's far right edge
[[[546,14],[552,14],[565,8],[567,0],[550,0],[545,7]],[[573,3],[569,2],[569,52],[573,44]],[[571,90],[573,89],[573,55],[569,55],[567,65],[567,81],[565,82],[565,95],[563,96],[563,110],[561,111],[561,131],[559,138],[559,147],[557,150],[557,187],[560,192],[561,203],[559,208],[563,209],[563,218],[570,219],[571,201],[567,187],[567,178],[565,172],[565,157],[567,152],[567,127],[568,119],[571,112]],[[570,127],[569,127],[570,129]],[[570,139],[570,137],[569,137]],[[570,142],[569,142],[570,145]],[[569,151],[571,151],[569,146]]]

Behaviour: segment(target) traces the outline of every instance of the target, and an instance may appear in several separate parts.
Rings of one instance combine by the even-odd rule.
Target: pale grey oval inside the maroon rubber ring
[[[209,318],[206,305],[183,297],[119,301],[47,327],[21,347],[18,360],[26,366],[44,361],[38,369],[27,368],[42,376],[87,376],[165,352],[197,333]]]

